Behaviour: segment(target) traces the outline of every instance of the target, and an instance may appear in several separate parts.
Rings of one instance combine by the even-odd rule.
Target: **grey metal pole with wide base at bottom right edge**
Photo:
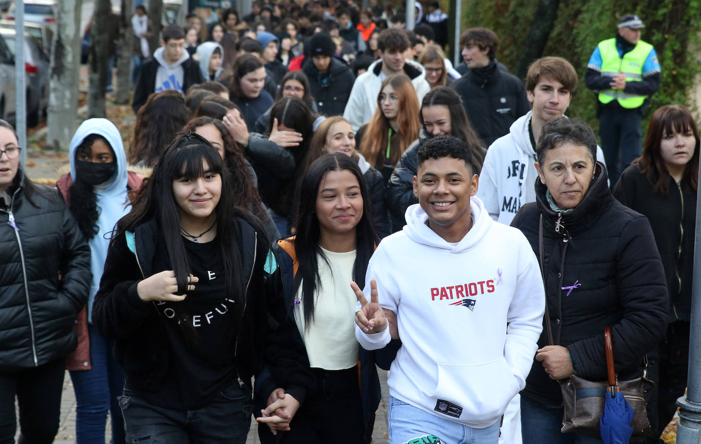
[[[701,171],[699,172],[701,176]],[[696,195],[696,235],[694,240],[694,275],[691,285],[691,330],[689,333],[689,373],[686,396],[676,401],[679,423],[676,442],[701,444],[701,193]]]

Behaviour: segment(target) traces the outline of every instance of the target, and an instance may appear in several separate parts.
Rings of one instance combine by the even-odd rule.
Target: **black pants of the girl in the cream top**
[[[307,396],[283,433],[283,444],[362,444],[365,443],[358,367],[347,370],[313,368],[317,387]],[[262,443],[270,440],[270,429],[260,424]],[[278,436],[280,433],[278,432]]]

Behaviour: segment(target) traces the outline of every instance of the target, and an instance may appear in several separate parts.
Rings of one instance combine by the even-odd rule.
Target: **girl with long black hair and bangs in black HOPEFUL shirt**
[[[182,135],[117,224],[93,322],[116,340],[130,440],[245,443],[264,363],[278,387],[309,385],[294,325],[265,285],[277,265],[264,230],[232,196],[216,149]]]

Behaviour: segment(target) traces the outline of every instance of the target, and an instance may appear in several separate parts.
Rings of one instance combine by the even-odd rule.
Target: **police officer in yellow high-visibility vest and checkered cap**
[[[587,65],[585,84],[599,92],[599,136],[611,186],[641,151],[646,101],[660,88],[660,63],[637,15],[618,22],[618,34],[601,41]]]

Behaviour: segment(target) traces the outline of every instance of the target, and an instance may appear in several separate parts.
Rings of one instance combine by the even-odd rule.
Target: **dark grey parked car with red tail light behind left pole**
[[[4,41],[6,48],[11,53],[13,69],[16,36],[15,29],[0,28],[0,39]],[[35,126],[39,123],[41,114],[46,112],[48,106],[49,56],[41,47],[41,43],[27,32],[25,32],[24,41],[25,73],[27,75],[27,125]]]

